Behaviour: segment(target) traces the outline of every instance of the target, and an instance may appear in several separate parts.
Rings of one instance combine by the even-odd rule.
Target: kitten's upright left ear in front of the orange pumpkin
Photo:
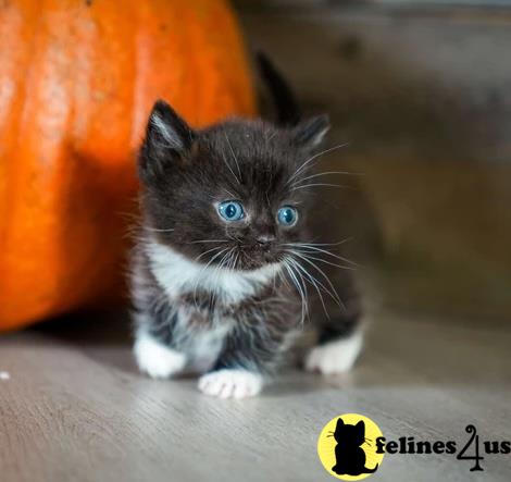
[[[194,131],[185,120],[165,101],[158,100],[149,116],[140,153],[141,177],[151,177],[162,172],[165,164],[185,159],[194,138]]]

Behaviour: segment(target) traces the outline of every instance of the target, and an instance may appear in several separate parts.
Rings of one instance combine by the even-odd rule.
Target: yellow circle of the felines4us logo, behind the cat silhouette
[[[317,438],[317,455],[325,470],[340,480],[362,480],[375,473],[384,454],[376,453],[378,425],[359,413],[333,418]]]

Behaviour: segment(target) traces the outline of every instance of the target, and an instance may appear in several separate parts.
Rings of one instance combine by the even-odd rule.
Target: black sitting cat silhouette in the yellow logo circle
[[[365,467],[365,452],[362,444],[365,443],[365,423],[361,420],[356,425],[349,425],[341,418],[337,420],[335,432],[333,433],[337,445],[335,447],[336,464],[332,470],[338,475],[361,475],[362,473],[376,472],[378,465],[374,469]]]

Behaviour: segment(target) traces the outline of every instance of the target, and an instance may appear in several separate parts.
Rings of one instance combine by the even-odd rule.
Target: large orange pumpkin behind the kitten
[[[250,115],[248,74],[222,0],[0,2],[0,330],[120,294],[152,103]]]

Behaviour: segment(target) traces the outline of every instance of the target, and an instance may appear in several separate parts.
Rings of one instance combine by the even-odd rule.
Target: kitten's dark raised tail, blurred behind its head
[[[256,55],[261,77],[273,98],[277,115],[276,123],[283,126],[297,125],[301,119],[301,112],[290,85],[264,53],[257,52]]]

